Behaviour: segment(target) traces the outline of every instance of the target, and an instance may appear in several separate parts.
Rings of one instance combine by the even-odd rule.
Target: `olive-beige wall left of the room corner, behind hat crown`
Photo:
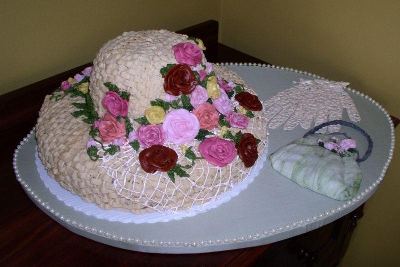
[[[220,1],[0,1],[0,94],[88,63],[123,31],[219,21]],[[204,9],[204,7],[207,7]]]

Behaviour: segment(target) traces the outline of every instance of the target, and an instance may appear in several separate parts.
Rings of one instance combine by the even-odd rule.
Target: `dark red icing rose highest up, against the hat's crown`
[[[190,94],[194,91],[196,85],[196,76],[185,64],[176,64],[169,69],[164,77],[164,91],[173,96]]]

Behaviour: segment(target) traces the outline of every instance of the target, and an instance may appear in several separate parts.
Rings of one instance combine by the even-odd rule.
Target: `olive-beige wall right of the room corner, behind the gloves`
[[[219,40],[271,64],[350,82],[400,117],[399,14],[399,1],[222,0]],[[342,266],[400,262],[399,147],[366,203]]]

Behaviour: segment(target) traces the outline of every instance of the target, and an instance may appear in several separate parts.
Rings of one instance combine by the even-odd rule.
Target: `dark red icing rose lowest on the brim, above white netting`
[[[139,162],[147,173],[168,171],[175,166],[178,155],[171,148],[163,145],[152,145],[139,153]]]

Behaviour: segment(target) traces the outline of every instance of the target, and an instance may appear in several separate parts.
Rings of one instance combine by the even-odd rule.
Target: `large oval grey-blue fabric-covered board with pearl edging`
[[[230,64],[226,67],[253,87],[261,100],[292,87],[291,81],[299,78],[320,79],[309,73],[274,66]],[[316,229],[351,212],[382,182],[394,150],[393,124],[376,101],[352,89],[348,89],[348,93],[362,118],[355,124],[374,142],[371,156],[360,164],[363,180],[359,193],[349,201],[336,201],[302,188],[273,171],[265,162],[245,190],[218,208],[166,222],[111,222],[75,211],[49,192],[36,171],[36,142],[32,132],[15,150],[15,174],[27,195],[43,212],[72,232],[109,245],[144,252],[198,253],[267,244]],[[348,118],[344,116],[343,120]],[[306,130],[277,128],[268,132],[268,153],[272,153]],[[345,132],[354,139],[358,134],[352,129]],[[366,142],[357,143],[357,147],[363,151]]]

